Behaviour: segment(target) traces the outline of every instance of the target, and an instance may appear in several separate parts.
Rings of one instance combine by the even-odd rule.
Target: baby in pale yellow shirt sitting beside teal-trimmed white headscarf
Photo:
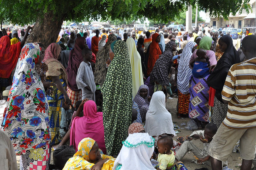
[[[174,164],[175,155],[171,151],[172,146],[173,140],[171,136],[162,136],[157,141],[159,169],[166,170],[167,167]]]

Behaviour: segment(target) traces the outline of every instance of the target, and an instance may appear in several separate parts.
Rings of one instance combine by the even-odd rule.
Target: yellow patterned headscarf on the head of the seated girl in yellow
[[[82,139],[78,144],[78,151],[74,154],[74,156],[80,156],[89,161],[89,152],[91,151],[94,143],[95,140],[90,137]]]

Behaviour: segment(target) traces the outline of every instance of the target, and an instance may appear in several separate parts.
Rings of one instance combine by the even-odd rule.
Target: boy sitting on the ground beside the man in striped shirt
[[[197,163],[211,166],[210,155],[208,154],[208,147],[210,142],[212,141],[212,137],[217,132],[217,126],[214,123],[209,123],[205,126],[205,130],[197,130],[194,131],[189,137],[193,137],[195,139],[200,139],[204,143],[204,148],[199,149],[194,145],[191,141],[185,141],[180,149],[176,152],[175,160],[181,161],[181,159],[186,155],[188,151],[194,153],[194,155],[198,158]]]

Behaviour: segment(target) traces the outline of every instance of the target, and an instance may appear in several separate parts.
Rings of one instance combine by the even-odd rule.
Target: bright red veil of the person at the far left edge
[[[3,36],[0,39],[0,77],[9,78],[14,69],[21,52],[20,42],[11,45],[11,40],[8,36]]]

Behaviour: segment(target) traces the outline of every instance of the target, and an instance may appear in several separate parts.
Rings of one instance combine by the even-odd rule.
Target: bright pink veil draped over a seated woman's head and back
[[[106,154],[102,112],[97,112],[97,106],[92,100],[85,102],[84,116],[75,117],[72,121],[70,145],[74,145],[77,151],[79,142],[85,137],[94,139],[99,148]]]

